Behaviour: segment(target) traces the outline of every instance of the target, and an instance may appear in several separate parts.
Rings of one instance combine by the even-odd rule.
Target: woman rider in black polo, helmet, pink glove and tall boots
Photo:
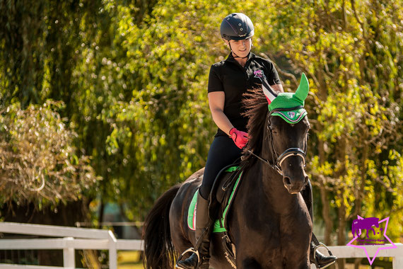
[[[274,91],[284,91],[274,64],[250,51],[252,36],[255,33],[250,18],[243,13],[232,13],[223,19],[220,31],[231,52],[225,61],[213,64],[209,74],[209,106],[218,132],[210,147],[197,198],[196,237],[204,234],[198,249],[201,259],[198,265],[198,257],[193,253],[185,261],[177,263],[176,267],[182,269],[209,268],[211,231],[204,232],[205,229],[209,230],[208,198],[218,172],[238,159],[242,154],[241,149],[247,143],[247,118],[243,115],[241,104],[243,93],[259,87],[262,79],[267,81]],[[311,248],[311,253],[314,254],[314,243]],[[335,261],[334,256],[327,257],[319,251],[316,251],[315,257],[321,268]]]

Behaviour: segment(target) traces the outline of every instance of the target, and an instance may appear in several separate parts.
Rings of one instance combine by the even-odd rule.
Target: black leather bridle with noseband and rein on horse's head
[[[250,154],[255,156],[257,159],[260,161],[263,161],[264,164],[269,165],[271,168],[273,168],[277,173],[279,173],[281,176],[283,176],[283,171],[281,169],[281,164],[291,156],[300,156],[303,159],[303,166],[306,165],[306,151],[308,149],[308,143],[305,143],[305,150],[300,149],[298,147],[291,147],[286,149],[283,153],[280,155],[277,154],[276,148],[274,147],[274,141],[273,141],[273,130],[271,130],[271,117],[274,112],[279,112],[279,111],[291,111],[291,110],[297,110],[299,108],[303,108],[302,105],[296,106],[293,108],[276,108],[274,110],[271,110],[269,113],[269,122],[267,124],[267,130],[269,130],[269,140],[270,140],[270,151],[271,151],[271,161],[268,161],[266,159],[263,159],[260,156],[257,156],[256,154],[253,153],[253,151],[247,150]]]

